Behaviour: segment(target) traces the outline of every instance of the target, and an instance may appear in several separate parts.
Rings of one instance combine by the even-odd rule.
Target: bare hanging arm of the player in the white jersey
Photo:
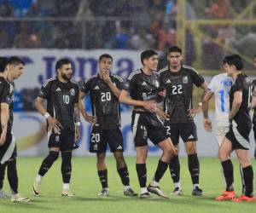
[[[210,91],[207,91],[202,101],[202,112],[204,117],[203,124],[204,124],[205,130],[207,130],[208,132],[212,131],[212,122],[208,117],[209,101],[211,100],[212,96],[213,96],[213,93]]]

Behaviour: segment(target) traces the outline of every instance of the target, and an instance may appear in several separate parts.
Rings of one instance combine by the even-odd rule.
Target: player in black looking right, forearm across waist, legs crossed
[[[141,54],[143,68],[132,72],[127,78],[125,88],[119,95],[119,101],[133,106],[131,129],[137,151],[136,170],[141,187],[141,199],[150,198],[155,193],[166,198],[160,190],[159,181],[164,176],[175,150],[172,141],[166,136],[165,127],[156,115],[156,101],[161,100],[160,78],[157,72],[159,56],[154,50],[145,50]],[[129,97],[130,95],[130,97]],[[162,150],[154,179],[146,187],[148,138]],[[149,192],[149,193],[148,193]]]

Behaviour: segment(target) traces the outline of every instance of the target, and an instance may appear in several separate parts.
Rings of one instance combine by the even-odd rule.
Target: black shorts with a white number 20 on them
[[[90,132],[90,153],[124,152],[123,135],[119,128],[101,130],[94,126]]]

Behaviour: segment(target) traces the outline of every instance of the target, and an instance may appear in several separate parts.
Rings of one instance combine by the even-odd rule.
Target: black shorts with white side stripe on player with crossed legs
[[[134,137],[135,147],[148,145],[148,138],[154,143],[159,144],[166,140],[166,130],[160,118],[150,112],[132,112],[131,130]]]

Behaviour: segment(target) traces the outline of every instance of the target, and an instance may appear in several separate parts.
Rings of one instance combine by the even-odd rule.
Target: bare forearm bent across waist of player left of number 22
[[[122,89],[121,94],[119,95],[119,102],[124,103],[133,107],[143,107],[149,112],[156,111],[156,104],[152,101],[138,101],[131,99],[130,93],[125,89]]]

